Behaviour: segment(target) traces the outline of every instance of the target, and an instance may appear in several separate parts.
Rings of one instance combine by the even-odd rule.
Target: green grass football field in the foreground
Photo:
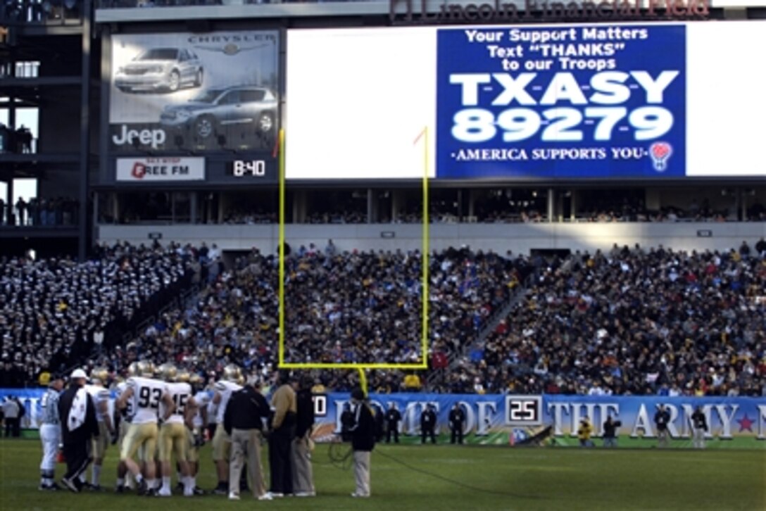
[[[40,492],[40,454],[39,441],[0,440],[0,509],[766,509],[764,450],[380,445],[372,454],[372,498],[359,500],[350,496],[352,471],[333,464],[328,445],[319,444],[318,495],[271,502],[118,495],[114,447],[102,493]],[[202,460],[198,483],[210,489],[208,446]],[[57,477],[63,473],[59,465]]]

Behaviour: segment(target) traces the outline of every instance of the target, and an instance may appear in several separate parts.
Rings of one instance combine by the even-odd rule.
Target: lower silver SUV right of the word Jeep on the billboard
[[[277,97],[265,87],[208,89],[188,103],[165,106],[159,116],[162,126],[191,130],[197,139],[208,139],[219,128],[254,126],[270,133],[276,126]]]

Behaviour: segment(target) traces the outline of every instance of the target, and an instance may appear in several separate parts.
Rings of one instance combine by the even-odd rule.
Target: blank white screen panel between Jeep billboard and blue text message
[[[424,175],[424,137],[415,140],[427,126],[433,154],[432,29],[293,30],[287,55],[287,179]]]

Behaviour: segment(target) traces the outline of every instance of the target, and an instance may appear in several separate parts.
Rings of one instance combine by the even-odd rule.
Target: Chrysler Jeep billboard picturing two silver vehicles
[[[278,130],[278,31],[115,34],[113,153],[269,152]]]

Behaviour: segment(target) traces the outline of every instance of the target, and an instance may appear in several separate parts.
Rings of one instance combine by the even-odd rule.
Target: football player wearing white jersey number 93
[[[170,414],[175,410],[175,404],[170,397],[167,385],[155,380],[154,367],[151,362],[142,361],[138,365],[139,375],[128,378],[127,388],[117,399],[117,407],[126,408],[126,403],[133,400],[136,413],[128,427],[128,433],[123,440],[123,447],[119,452],[119,460],[125,463],[127,470],[133,473],[138,483],[139,493],[142,495],[156,495],[155,488],[155,449],[159,421],[167,421]],[[159,417],[159,404],[164,403],[165,414]],[[146,478],[133,457],[136,451],[143,447],[146,456]],[[118,476],[121,475],[118,473]]]

